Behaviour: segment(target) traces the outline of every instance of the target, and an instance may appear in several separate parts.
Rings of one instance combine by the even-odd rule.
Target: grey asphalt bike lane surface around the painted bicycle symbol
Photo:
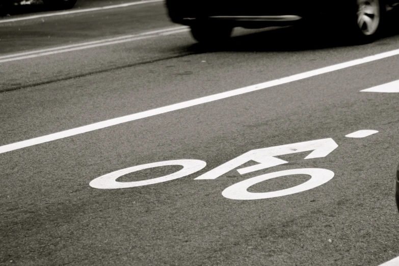
[[[360,90],[397,79],[389,72],[394,64],[394,58],[369,63],[3,153],[2,257],[20,264],[181,265],[378,265],[391,259],[398,254],[392,178],[399,95]],[[378,78],[369,74],[376,66]],[[379,132],[345,137],[363,129]],[[325,157],[283,153],[276,156],[286,164],[235,171],[255,165],[249,162],[214,180],[194,180],[251,150],[321,139],[337,145]],[[207,165],[144,187],[89,185],[119,169],[176,159]],[[303,168],[327,169],[334,177],[275,198],[222,195],[245,179]],[[179,169],[147,169],[119,181]],[[283,176],[248,191],[278,191],[308,179]]]

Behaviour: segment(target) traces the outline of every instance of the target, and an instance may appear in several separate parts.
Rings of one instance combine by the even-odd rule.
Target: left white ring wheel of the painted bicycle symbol
[[[170,165],[180,165],[183,169],[166,176],[161,176],[153,179],[141,180],[141,181],[132,181],[132,182],[117,182],[116,179],[123,175],[137,172],[144,169],[160,167],[160,166],[170,166]],[[182,159],[182,160],[172,160],[172,161],[164,161],[164,162],[157,162],[145,165],[138,165],[134,167],[129,167],[125,169],[121,169],[106,175],[102,175],[97,177],[96,179],[92,180],[89,185],[95,189],[125,189],[125,188],[134,188],[134,187],[141,187],[142,185],[149,185],[149,184],[156,184],[161,182],[166,182],[169,180],[177,179],[180,177],[184,177],[187,175],[191,175],[206,166],[204,161],[200,160],[189,160],[189,159]]]

